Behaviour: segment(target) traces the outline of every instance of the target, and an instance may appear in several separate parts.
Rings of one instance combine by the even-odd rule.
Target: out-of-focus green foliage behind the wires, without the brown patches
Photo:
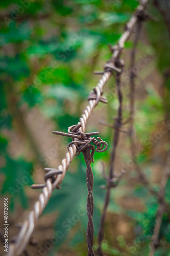
[[[10,197],[11,210],[15,210],[18,204],[28,207],[28,195],[25,193],[25,188],[33,183],[33,165],[41,160],[38,159],[36,150],[31,161],[26,154],[11,156],[10,137],[7,136],[6,131],[14,131],[21,133],[23,137],[31,138],[30,131],[25,129],[23,106],[27,112],[38,108],[44,116],[56,123],[58,130],[66,132],[68,126],[76,124],[81,115],[83,102],[98,81],[98,78],[91,75],[92,71],[101,69],[109,59],[110,53],[107,44],[116,44],[125,23],[137,5],[138,1],[136,0],[1,1],[0,15],[3,18],[0,37],[2,47],[0,54],[2,80],[0,83],[0,142],[1,175],[3,177],[1,193]],[[144,32],[149,44],[146,43],[143,46],[139,43],[138,50],[142,56],[148,54],[156,59],[156,65],[155,62],[154,65],[160,75],[164,77],[169,69],[170,59],[168,31],[159,12],[153,6],[149,7],[149,11],[158,18],[158,22],[150,20],[145,24]],[[126,49],[131,48],[132,41],[129,41],[126,44]],[[126,96],[128,82],[125,80],[124,83],[123,91],[125,90]],[[105,107],[108,121],[111,121],[111,117],[116,115],[118,106],[116,94],[111,91],[113,84],[113,80],[110,81],[108,83],[110,91],[106,90],[106,96],[109,99],[109,103]],[[167,78],[165,86],[168,90],[170,89],[169,84],[169,78]],[[156,131],[157,122],[164,118],[164,113],[170,102],[168,90],[164,101],[156,88],[151,84],[146,84],[147,97],[138,103],[137,120],[140,121],[135,122],[135,128],[143,151],[139,154],[137,161],[146,166],[145,170],[148,170],[148,175],[150,175],[151,155],[148,149],[149,144],[147,145],[145,141]],[[128,101],[129,99],[125,97],[124,104],[128,104]],[[98,107],[99,110],[100,107]],[[124,115],[128,117],[128,110],[125,109]],[[88,129],[92,127],[89,126]],[[96,130],[95,126],[94,130]],[[100,188],[104,181],[99,172],[99,161],[109,161],[112,145],[111,129],[104,128],[101,134],[101,137],[109,144],[109,151],[101,155],[95,154],[94,157],[95,236],[99,229],[105,194],[104,190]],[[128,144],[128,142],[125,143]],[[120,160],[127,161],[128,159],[129,156],[123,151]],[[69,224],[70,226],[65,223],[67,228],[60,225],[77,214],[80,205],[83,205],[84,209],[87,198],[85,164],[82,156],[78,157],[73,165],[74,167],[70,167],[70,170],[74,169],[74,172],[66,174],[62,189],[55,191],[44,214],[58,212],[54,228],[62,230],[64,233],[63,239],[57,244],[58,249],[67,239],[70,229],[79,226],[79,231],[74,232],[72,241],[68,244],[68,247],[74,247],[75,251],[78,251],[79,246],[85,243],[86,214],[80,218],[78,223],[74,222],[74,224]],[[133,177],[133,172],[131,175]],[[20,184],[19,193],[17,193],[16,184],[24,177],[27,177],[27,181]],[[121,191],[118,190],[119,188],[112,191],[109,212],[113,217],[116,214],[128,216],[133,223],[132,236],[134,240],[129,243],[124,236],[117,235],[113,241],[110,239],[109,231],[106,231],[106,240],[104,240],[102,248],[108,255],[148,255],[158,202],[153,196],[149,196],[148,191],[142,185],[138,184],[134,190],[132,189],[128,193],[131,197],[142,199],[145,209],[143,211],[125,210],[116,203],[117,198],[121,195],[127,195],[127,191],[124,189],[125,181],[122,181],[119,186]],[[166,199],[170,202],[168,187]],[[155,185],[155,189],[158,190],[157,185]],[[110,228],[114,229],[114,226]],[[168,252],[169,229],[168,217],[164,215],[160,239],[164,239],[166,243],[164,246],[158,247],[155,256],[170,255]],[[108,241],[112,241],[112,243],[109,244]],[[84,247],[82,246],[82,248]],[[81,255],[84,255],[86,251],[83,251],[82,248]],[[122,254],[123,252],[124,254]]]

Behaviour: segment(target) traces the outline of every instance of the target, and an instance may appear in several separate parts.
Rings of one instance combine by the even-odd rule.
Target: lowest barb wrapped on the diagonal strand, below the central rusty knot
[[[57,169],[54,169],[54,168],[44,168],[45,172],[47,174],[45,174],[44,176],[44,181],[45,181],[45,184],[33,184],[31,185],[31,188],[32,189],[39,189],[39,188],[44,188],[46,187],[46,181],[47,179],[51,179],[52,183],[55,182],[56,178],[57,178],[57,175],[58,174],[62,174],[63,171],[62,170],[57,170]],[[61,187],[58,185],[56,187],[56,189],[60,189]]]

